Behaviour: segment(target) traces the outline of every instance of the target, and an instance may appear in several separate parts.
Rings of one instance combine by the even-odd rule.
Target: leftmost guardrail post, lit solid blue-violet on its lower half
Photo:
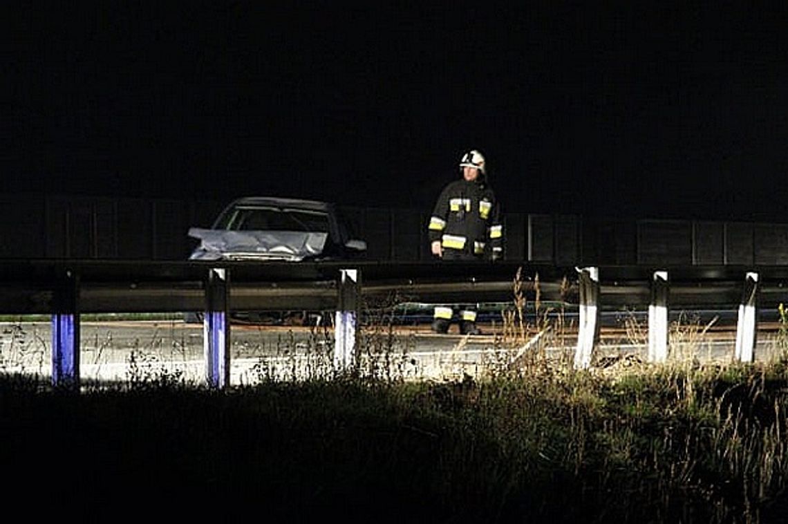
[[[80,385],[80,278],[72,270],[58,277],[52,312],[52,384]]]

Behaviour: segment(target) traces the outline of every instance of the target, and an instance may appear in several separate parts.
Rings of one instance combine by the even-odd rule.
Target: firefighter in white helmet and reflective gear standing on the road
[[[487,183],[485,157],[478,150],[466,151],[459,161],[460,180],[450,182],[435,203],[429,218],[429,248],[441,260],[499,260],[504,255],[504,228],[500,206]],[[432,329],[448,333],[459,314],[459,333],[481,335],[476,325],[475,304],[437,305]]]

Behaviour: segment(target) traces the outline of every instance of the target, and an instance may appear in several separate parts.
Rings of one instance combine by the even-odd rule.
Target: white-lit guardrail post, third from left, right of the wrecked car
[[[334,322],[334,370],[355,364],[355,335],[359,318],[359,270],[340,269],[339,300]]]

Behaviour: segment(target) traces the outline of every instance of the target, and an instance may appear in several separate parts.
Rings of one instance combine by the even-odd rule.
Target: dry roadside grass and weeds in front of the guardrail
[[[523,305],[498,344],[562,335]],[[361,341],[368,362],[399,344],[385,328]],[[5,374],[3,492],[269,522],[785,522],[788,359],[578,371],[535,347],[480,377],[380,370],[221,391],[146,374],[79,394]]]

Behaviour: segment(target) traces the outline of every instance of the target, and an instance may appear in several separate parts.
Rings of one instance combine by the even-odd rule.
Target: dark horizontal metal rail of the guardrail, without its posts
[[[597,266],[600,303],[648,305],[652,276],[667,272],[671,305],[735,305],[747,273],[759,275],[759,300],[776,307],[788,298],[788,266]],[[501,302],[522,291],[578,304],[578,268],[515,262],[151,262],[4,259],[0,262],[0,314],[50,314],[54,295],[77,285],[80,313],[203,310],[210,269],[231,275],[231,310],[312,309],[336,306],[340,269],[357,269],[362,295],[400,295],[425,303]],[[69,284],[69,281],[74,281]]]

